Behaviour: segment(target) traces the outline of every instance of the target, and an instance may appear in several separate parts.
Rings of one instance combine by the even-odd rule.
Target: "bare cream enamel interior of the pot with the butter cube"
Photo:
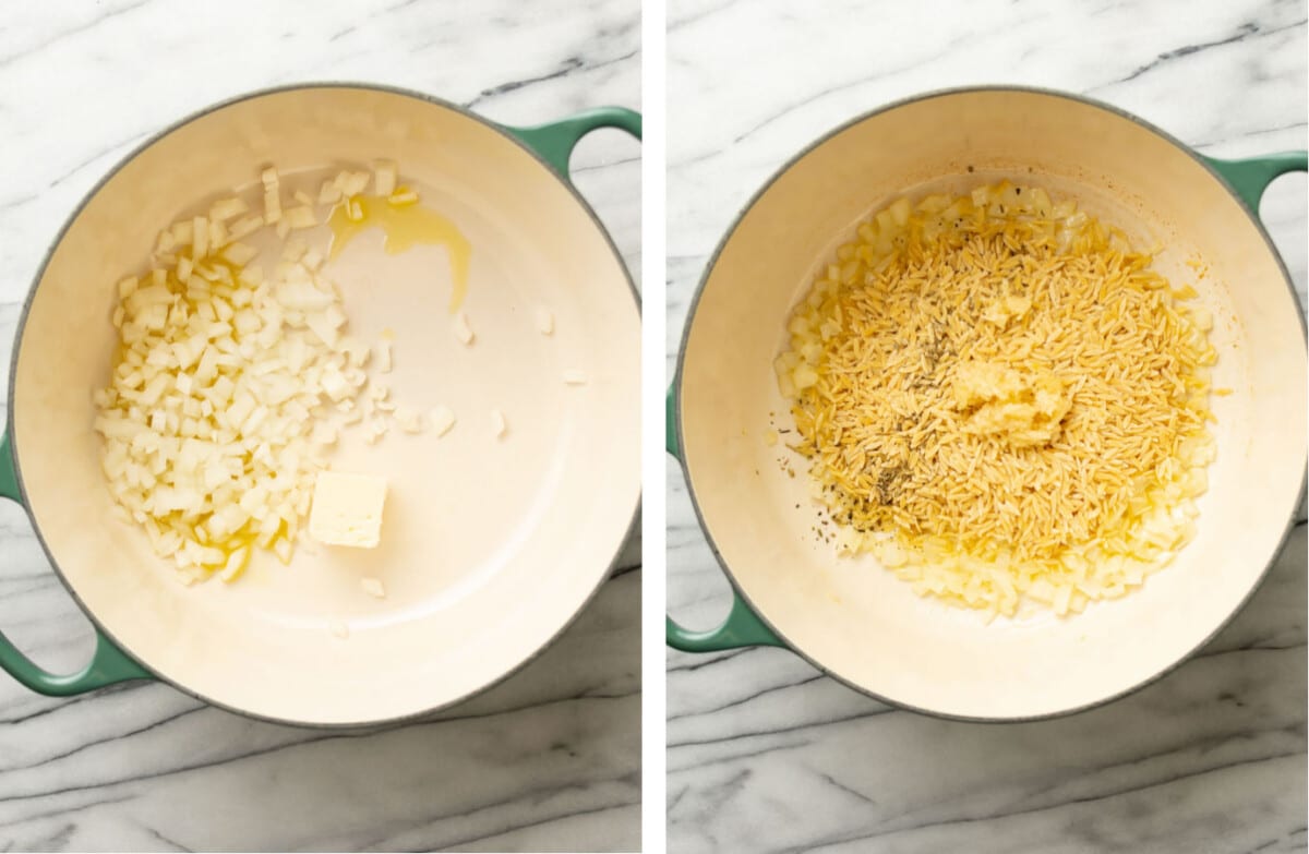
[[[259,555],[242,583],[183,587],[111,499],[90,392],[114,351],[114,284],[157,231],[275,164],[302,170],[390,157],[424,204],[473,244],[463,305],[473,347],[449,331],[444,250],[385,255],[360,236],[327,269],[351,326],[395,333],[393,397],[449,405],[454,430],[393,428],[343,443],[332,466],[389,481],[377,550]],[[301,185],[304,186],[304,185]],[[315,194],[313,182],[306,189]],[[284,194],[289,195],[289,194]],[[535,306],[555,314],[541,335]],[[94,194],[37,284],[16,356],[13,445],[30,511],[84,608],[130,654],[182,688],[257,715],[365,723],[416,714],[493,682],[539,651],[607,574],[636,510],[639,313],[622,263],[565,185],[501,132],[402,93],[291,89],[174,130]],[[565,386],[564,368],[585,386]],[[491,410],[509,434],[496,440]],[[385,600],[359,578],[380,578]],[[346,640],[330,621],[350,626]]]

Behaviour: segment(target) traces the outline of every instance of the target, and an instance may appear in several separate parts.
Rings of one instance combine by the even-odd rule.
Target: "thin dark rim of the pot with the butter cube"
[[[20,494],[18,504],[22,507],[24,512],[27,515],[29,521],[31,523],[33,534],[37,537],[37,542],[41,545],[41,550],[46,555],[46,561],[50,563],[50,568],[54,571],[55,578],[59,579],[59,583],[64,587],[64,589],[72,597],[73,603],[77,605],[77,609],[82,614],[85,614],[86,618],[90,621],[92,627],[96,631],[98,631],[99,634],[102,634],[105,637],[105,639],[107,639],[110,643],[113,643],[123,655],[126,655],[128,659],[131,659],[137,665],[140,665],[144,671],[147,671],[148,673],[151,673],[151,676],[153,678],[156,678],[156,680],[158,680],[161,682],[165,682],[165,684],[173,686],[175,690],[182,692],[183,694],[187,694],[190,697],[194,697],[195,699],[199,699],[199,701],[204,702],[206,705],[215,706],[217,709],[223,709],[224,711],[230,711],[230,713],[242,715],[245,718],[251,718],[251,719],[255,719],[255,720],[263,720],[263,722],[267,722],[267,723],[276,723],[276,724],[293,726],[293,727],[304,727],[304,728],[309,728],[309,730],[334,730],[334,731],[373,730],[373,728],[380,728],[380,727],[389,727],[389,726],[395,726],[395,724],[404,724],[404,723],[416,722],[416,720],[428,718],[431,715],[435,715],[435,714],[437,714],[440,711],[444,711],[444,710],[446,710],[446,709],[449,709],[452,706],[457,706],[457,705],[459,705],[462,702],[466,702],[466,701],[471,699],[473,697],[475,697],[478,694],[482,694],[484,692],[491,690],[496,685],[500,685],[501,682],[504,682],[505,680],[508,680],[511,676],[514,676],[516,673],[518,673],[524,668],[526,668],[529,664],[531,664],[533,661],[535,661],[550,646],[552,646],[555,643],[555,640],[559,639],[560,635],[563,635],[564,631],[567,631],[567,629],[569,626],[572,626],[573,622],[576,622],[577,617],[580,617],[581,613],[600,595],[600,589],[605,585],[605,583],[609,582],[614,576],[613,574],[614,574],[614,570],[618,567],[619,558],[622,557],[623,549],[627,546],[627,542],[631,540],[632,532],[636,529],[637,520],[640,519],[640,510],[641,510],[640,491],[637,491],[636,504],[632,508],[632,515],[631,515],[631,519],[627,523],[626,533],[623,534],[622,540],[619,541],[618,548],[615,549],[613,557],[609,559],[609,563],[607,563],[605,571],[597,579],[596,585],[586,593],[586,596],[583,599],[583,601],[577,606],[577,609],[573,610],[565,620],[563,620],[563,622],[559,625],[559,629],[554,634],[551,634],[545,642],[542,642],[541,646],[538,646],[530,655],[528,655],[526,658],[524,658],[516,665],[513,665],[512,668],[509,668],[504,673],[500,673],[499,676],[496,676],[491,681],[486,682],[484,685],[482,685],[482,686],[479,686],[479,688],[476,688],[476,689],[474,689],[471,692],[467,692],[467,693],[465,693],[465,694],[462,694],[462,696],[459,696],[459,697],[457,697],[454,699],[449,699],[446,702],[437,703],[436,706],[432,706],[429,709],[424,709],[424,710],[420,710],[420,711],[412,711],[412,713],[406,713],[403,715],[393,715],[393,716],[387,716],[387,718],[378,718],[376,720],[357,720],[357,722],[306,722],[306,720],[296,720],[296,719],[292,719],[292,718],[278,718],[278,716],[274,716],[274,715],[264,715],[264,714],[254,713],[254,711],[250,711],[250,710],[246,710],[246,709],[240,709],[237,706],[233,706],[233,705],[225,703],[223,701],[215,699],[212,697],[208,697],[208,696],[206,696],[206,694],[203,694],[200,692],[196,692],[196,690],[192,690],[190,688],[186,688],[186,686],[181,685],[179,682],[177,682],[175,680],[169,678],[169,677],[161,675],[158,671],[156,671],[153,667],[151,667],[147,661],[141,660],[135,652],[132,652],[124,644],[122,644],[118,640],[118,638],[114,637],[114,633],[111,633],[96,617],[96,614],[90,610],[90,608],[86,606],[86,604],[77,595],[77,591],[75,591],[73,587],[72,587],[72,584],[68,582],[68,579],[64,575],[63,570],[59,568],[59,563],[55,561],[54,554],[51,553],[50,546],[46,542],[46,538],[45,538],[45,536],[41,532],[41,527],[37,524],[35,515],[34,515],[34,512],[31,510],[31,506],[29,504],[29,500],[27,500],[27,490],[26,490],[26,486],[24,483],[22,465],[20,462],[20,455],[18,455],[18,437],[17,437],[17,435],[14,432],[14,418],[13,418],[13,411],[14,411],[14,406],[13,406],[14,386],[16,386],[17,376],[18,376],[18,352],[20,352],[20,350],[22,347],[22,333],[24,333],[24,329],[25,329],[26,322],[27,322],[27,313],[31,309],[31,303],[33,303],[33,300],[34,300],[34,297],[37,295],[37,289],[41,286],[41,280],[46,275],[46,269],[50,266],[51,258],[54,257],[54,254],[59,249],[59,246],[63,244],[64,237],[68,233],[68,229],[72,228],[72,224],[75,221],[77,221],[77,217],[81,216],[82,211],[86,208],[86,206],[90,203],[90,200],[94,199],[99,194],[99,191],[105,187],[105,185],[109,183],[109,181],[113,179],[123,168],[126,168],[130,162],[132,162],[134,160],[136,160],[136,157],[139,157],[140,155],[143,155],[147,149],[149,149],[151,147],[153,147],[156,143],[158,143],[158,141],[164,140],[165,138],[170,136],[171,134],[174,134],[175,131],[181,130],[182,127],[186,127],[187,124],[191,124],[192,122],[203,119],[203,118],[206,118],[206,117],[208,117],[208,115],[211,115],[213,113],[217,113],[220,110],[224,110],[226,107],[236,106],[236,105],[242,103],[245,101],[254,101],[254,100],[268,97],[268,96],[278,96],[278,94],[283,94],[283,93],[287,93],[287,92],[300,92],[300,90],[308,90],[308,89],[323,89],[323,90],[329,90],[329,89],[356,89],[356,90],[381,92],[381,93],[386,93],[386,94],[402,96],[402,97],[411,98],[411,100],[415,100],[415,101],[421,101],[421,102],[432,105],[432,106],[445,107],[445,109],[448,109],[448,110],[450,110],[450,111],[461,115],[461,118],[476,122],[478,124],[482,124],[483,127],[487,127],[491,131],[493,131],[493,132],[499,134],[500,136],[503,136],[504,139],[508,139],[509,141],[512,141],[520,149],[522,149],[524,152],[526,152],[533,160],[535,160],[537,164],[542,169],[545,169],[546,173],[548,173],[555,181],[558,181],[560,185],[563,185],[563,187],[568,191],[568,194],[572,195],[573,200],[577,202],[579,206],[581,206],[583,211],[586,214],[586,216],[594,224],[596,229],[600,232],[601,238],[609,246],[610,253],[613,253],[614,261],[618,262],[618,269],[622,271],[623,280],[626,282],[628,293],[632,297],[634,308],[636,309],[637,317],[640,316],[640,313],[641,313],[640,293],[636,289],[635,282],[632,282],[631,271],[627,269],[627,263],[623,261],[622,254],[618,251],[618,246],[614,244],[614,238],[610,236],[609,231],[603,227],[603,224],[600,221],[600,217],[596,215],[594,208],[590,207],[590,204],[586,202],[586,199],[583,198],[581,193],[579,193],[579,190],[572,185],[572,182],[568,178],[565,178],[563,174],[560,174],[559,172],[556,172],[548,162],[546,162],[546,160],[534,148],[531,148],[524,140],[518,139],[514,134],[512,134],[509,131],[508,126],[492,122],[491,119],[487,119],[487,118],[484,118],[484,117],[474,113],[469,107],[465,107],[462,105],[454,103],[452,101],[446,101],[445,98],[431,96],[431,94],[427,94],[427,93],[423,93],[423,92],[418,92],[415,89],[408,89],[408,88],[404,88],[404,86],[393,86],[393,85],[387,85],[387,84],[380,84],[380,83],[348,81],[348,80],[343,80],[343,81],[321,80],[321,81],[305,81],[305,83],[293,83],[293,84],[285,84],[285,85],[278,85],[278,86],[267,86],[267,88],[262,88],[262,89],[254,89],[254,90],[250,90],[250,92],[246,92],[246,93],[242,93],[242,94],[237,94],[237,96],[233,96],[230,98],[224,98],[223,101],[217,101],[215,103],[211,103],[211,105],[208,105],[206,107],[195,110],[195,111],[185,115],[183,118],[181,118],[181,119],[178,119],[178,121],[168,124],[166,127],[164,127],[162,130],[157,131],[156,134],[152,134],[144,141],[141,141],[140,144],[135,145],[118,162],[115,162],[114,166],[110,168],[109,172],[106,172],[82,195],[82,198],[77,203],[77,206],[72,210],[72,212],[67,216],[67,219],[64,219],[63,225],[59,227],[59,231],[55,233],[55,237],[50,242],[50,248],[46,249],[46,253],[42,257],[41,263],[37,266],[37,271],[35,271],[35,274],[33,275],[33,279],[31,279],[31,287],[27,288],[27,293],[26,293],[26,296],[24,297],[24,301],[22,301],[22,308],[21,308],[21,310],[18,313],[17,324],[14,325],[14,338],[13,338],[14,346],[13,346],[13,355],[10,356],[10,362],[9,362],[9,386],[8,386],[8,394],[9,394],[8,401],[9,401],[9,405],[7,407],[8,413],[5,415],[5,434],[9,436],[9,452],[12,455],[12,457],[13,457],[14,482],[18,486],[18,494]]]

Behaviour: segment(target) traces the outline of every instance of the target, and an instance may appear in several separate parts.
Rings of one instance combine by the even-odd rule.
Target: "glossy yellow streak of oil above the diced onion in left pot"
[[[389,255],[397,255],[418,245],[445,246],[450,254],[453,282],[450,310],[459,308],[469,289],[469,258],[473,246],[454,223],[421,204],[397,207],[377,195],[356,195],[351,200],[363,208],[364,216],[359,220],[350,219],[346,214],[346,202],[332,208],[327,217],[327,227],[331,228],[329,258],[339,255],[350,241],[369,228],[382,229],[385,234],[382,249]]]

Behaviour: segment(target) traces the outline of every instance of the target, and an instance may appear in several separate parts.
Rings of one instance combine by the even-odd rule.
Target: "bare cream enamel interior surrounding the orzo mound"
[[[969,172],[969,168],[973,172]],[[771,363],[791,306],[853,224],[897,195],[1009,177],[1079,199],[1192,282],[1216,317],[1219,458],[1198,538],[1145,587],[1083,616],[984,625],[919,599],[870,557],[816,541],[804,461],[762,435],[788,426]],[[1187,258],[1210,265],[1195,282]],[[1090,103],[1024,90],[944,93],[857,122],[793,162],[725,241],[687,334],[679,414],[689,482],[755,610],[835,676],[922,710],[1008,719],[1128,690],[1208,638],[1258,584],[1304,477],[1305,341],[1262,232],[1185,151]],[[787,477],[779,458],[795,461]],[[1301,461],[1295,464],[1293,461]],[[798,507],[797,507],[798,504]]]

